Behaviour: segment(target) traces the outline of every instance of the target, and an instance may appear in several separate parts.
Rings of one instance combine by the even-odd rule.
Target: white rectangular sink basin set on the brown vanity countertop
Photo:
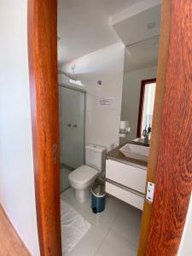
[[[119,148],[119,150],[126,157],[148,161],[149,147],[127,143],[122,148]]]

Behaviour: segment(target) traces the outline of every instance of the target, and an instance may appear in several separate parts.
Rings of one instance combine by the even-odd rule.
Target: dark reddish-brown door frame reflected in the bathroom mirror
[[[141,82],[138,121],[137,121],[137,137],[142,137],[141,129],[142,129],[142,119],[143,119],[143,103],[144,103],[144,95],[145,95],[145,86],[146,84],[153,84],[153,83],[156,83],[156,79],[144,79]]]

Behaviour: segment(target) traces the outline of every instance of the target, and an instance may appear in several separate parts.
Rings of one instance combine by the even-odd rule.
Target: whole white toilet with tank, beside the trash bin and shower
[[[89,198],[90,185],[96,177],[105,171],[106,148],[97,145],[85,147],[85,165],[80,166],[68,176],[69,183],[75,189],[75,198],[83,203]]]

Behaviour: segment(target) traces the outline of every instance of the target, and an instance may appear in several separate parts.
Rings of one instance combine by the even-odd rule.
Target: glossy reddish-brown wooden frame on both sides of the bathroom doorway
[[[185,2],[185,3],[184,3]],[[172,131],[172,124],[181,127],[177,122],[172,122],[172,116],[167,119],[167,114],[170,113],[170,105],[168,98],[174,96],[174,90],[183,89],[177,83],[177,79],[183,82],[185,79],[189,80],[189,72],[180,74],[180,70],[174,73],[172,78],[173,67],[178,65],[178,60],[174,59],[176,49],[174,44],[177,44],[177,50],[181,54],[181,47],[188,46],[187,41],[190,33],[189,17],[191,18],[190,0],[163,0],[162,3],[162,20],[161,20],[161,37],[160,37],[160,57],[158,63],[157,73],[157,87],[154,102],[154,118],[153,131],[151,137],[150,155],[148,161],[148,177],[147,181],[155,181],[154,204],[150,205],[147,201],[144,202],[143,222],[140,236],[140,244],[138,255],[155,256],[169,255],[173,256],[177,253],[179,246],[184,220],[186,218],[189,194],[191,191],[191,176],[189,170],[183,166],[183,172],[180,174],[176,172],[177,182],[184,179],[186,188],[184,189],[183,197],[177,196],[177,202],[181,202],[179,207],[174,207],[173,193],[168,193],[169,202],[172,209],[182,213],[182,221],[179,223],[179,229],[174,230],[175,219],[170,218],[172,215],[169,211],[159,211],[159,203],[161,205],[167,204],[167,197],[160,198],[162,189],[167,188],[167,179],[165,170],[169,173],[169,184],[175,184],[176,174],[172,173],[170,164],[168,169],[162,170],[164,155],[164,143],[169,146],[169,139],[171,134],[166,136],[166,131],[169,128]],[[183,8],[183,9],[182,9]],[[180,19],[180,20],[179,20]],[[35,196],[36,209],[38,219],[38,239],[40,245],[41,256],[53,255],[61,256],[61,221],[60,221],[60,163],[59,163],[59,106],[58,106],[58,68],[57,68],[57,1],[56,0],[28,0],[28,55],[29,55],[29,73],[30,73],[30,97],[32,110],[32,146],[33,146],[33,163],[34,163],[34,179],[35,179]],[[177,24],[174,24],[177,20]],[[178,22],[180,21],[180,23]],[[187,23],[186,23],[187,22]],[[186,24],[186,27],[183,27]],[[183,33],[183,37],[176,38]],[[171,38],[171,40],[170,40]],[[175,42],[173,42],[173,39]],[[188,38],[190,39],[190,38]],[[178,40],[180,40],[179,44]],[[190,44],[191,45],[191,44]],[[184,51],[184,49],[183,49]],[[186,60],[183,60],[183,67],[189,71],[190,63],[192,62],[189,48],[185,50]],[[174,61],[176,61],[174,63]],[[167,64],[168,63],[168,64]],[[188,75],[186,77],[186,75]],[[172,81],[169,84],[170,80]],[[172,87],[173,83],[176,87]],[[183,84],[182,84],[183,85]],[[189,85],[184,84],[184,88],[189,90]],[[171,90],[173,88],[174,90]],[[191,89],[190,89],[191,91]],[[177,94],[177,93],[176,93]],[[183,94],[182,94],[183,96]],[[181,104],[181,96],[174,97],[175,101],[182,106],[183,116],[188,113],[186,108],[189,108],[189,101],[186,104]],[[179,106],[180,106],[179,105]],[[175,106],[175,105],[174,105]],[[178,109],[179,111],[179,109]],[[179,112],[180,113],[180,112]],[[175,117],[175,115],[173,115]],[[189,116],[188,116],[189,118]],[[191,123],[192,120],[190,119]],[[167,124],[169,126],[167,126]],[[185,124],[185,123],[184,123]],[[186,128],[186,126],[184,126]],[[191,131],[190,131],[191,132]],[[179,138],[184,140],[183,132],[179,133]],[[187,132],[189,138],[191,133]],[[161,135],[161,136],[160,136]],[[189,139],[188,138],[188,139]],[[174,141],[175,139],[175,141]],[[172,145],[175,145],[177,138],[172,139]],[[178,141],[177,141],[178,143]],[[189,142],[188,142],[189,143]],[[180,143],[181,144],[181,143]],[[179,144],[179,145],[180,145]],[[180,147],[182,148],[182,147]],[[182,152],[184,148],[182,148]],[[177,154],[178,157],[178,154]],[[176,160],[177,162],[177,160]],[[173,164],[173,163],[172,163]],[[178,162],[177,162],[178,164]],[[175,165],[175,164],[174,164]],[[175,165],[176,166],[176,165]],[[156,180],[155,172],[157,170]],[[177,171],[177,170],[176,170]],[[173,174],[173,175],[172,175]],[[182,176],[183,175],[183,176]],[[161,209],[160,209],[161,210]],[[174,215],[174,216],[176,216]],[[151,216],[151,219],[150,219]],[[162,218],[162,216],[164,218]],[[160,219],[157,219],[157,217]],[[172,228],[168,229],[165,225],[165,219],[170,221]],[[155,229],[155,224],[158,224],[160,231],[165,235],[165,230],[168,233],[162,237],[161,232]],[[155,232],[154,232],[155,230]],[[179,231],[179,233],[178,233]],[[158,234],[158,236],[157,236]],[[175,235],[176,238],[175,238]],[[174,240],[172,239],[174,236]],[[158,243],[158,244],[157,244]],[[168,254],[167,254],[168,252]]]

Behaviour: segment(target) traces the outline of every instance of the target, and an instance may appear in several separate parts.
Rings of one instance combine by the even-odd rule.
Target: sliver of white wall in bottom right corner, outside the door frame
[[[178,250],[178,256],[192,255],[191,237],[192,237],[192,195],[190,198],[187,219],[184,225],[182,241]]]

